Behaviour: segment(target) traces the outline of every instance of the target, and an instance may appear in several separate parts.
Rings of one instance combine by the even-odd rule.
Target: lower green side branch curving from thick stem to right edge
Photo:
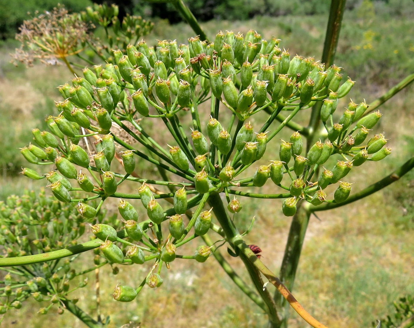
[[[414,167],[414,157],[411,157],[407,162],[402,164],[398,169],[396,169],[391,174],[388,174],[385,178],[377,181],[376,183],[370,185],[369,187],[361,190],[359,193],[356,193],[350,196],[347,200],[342,203],[326,203],[320,206],[310,206],[310,212],[317,212],[317,211],[325,211],[327,209],[334,209],[337,207],[344,206],[346,204],[355,202],[356,200],[360,200],[364,197],[367,197],[373,193],[376,193],[378,190],[385,188],[386,186],[390,185],[391,183],[400,180],[400,178],[410,171]]]

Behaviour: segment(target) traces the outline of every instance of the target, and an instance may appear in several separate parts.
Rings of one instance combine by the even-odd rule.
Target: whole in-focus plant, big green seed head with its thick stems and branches
[[[264,40],[252,30],[219,31],[211,42],[183,2],[174,4],[200,36],[188,44],[137,41],[113,49],[112,62],[85,67],[59,87],[58,114],[46,118],[48,130],[34,128],[34,142],[21,148],[37,166],[23,174],[46,179],[56,199],[76,206],[84,222],[93,221],[95,239],[39,254],[12,252],[0,265],[49,263],[99,248],[105,262],[131,266],[131,275],[137,275],[136,266],[147,268],[135,285],[113,282],[113,298],[130,302],[142,288],[161,287],[175,261],[214,256],[271,327],[286,327],[289,306],[311,326],[325,327],[289,292],[309,216],[365,197],[412,168],[411,161],[394,177],[352,195],[356,181],[348,180],[349,172],[391,153],[384,134],[370,132],[382,115],[372,109],[413,78],[371,107],[352,100],[345,109],[337,106],[354,86],[332,65],[344,1],[332,1],[322,62],[292,55],[278,38]],[[303,126],[306,116],[309,124]],[[271,194],[261,192],[265,184]],[[330,185],[334,191],[327,195]],[[280,279],[260,259],[260,248],[245,242],[254,218],[247,231],[238,226],[245,197],[263,204],[279,200],[274,204],[293,216]],[[103,218],[111,199],[121,229]],[[133,205],[137,199],[140,209]],[[147,216],[138,215],[142,210]],[[215,252],[217,240],[243,261],[251,283]],[[185,244],[192,252],[182,251]],[[267,282],[277,295],[270,295]]]

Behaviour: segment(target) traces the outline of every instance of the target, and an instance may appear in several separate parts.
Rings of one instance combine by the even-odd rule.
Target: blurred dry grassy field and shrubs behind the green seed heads
[[[194,34],[171,5],[138,0],[114,2],[120,5],[121,15],[140,14],[155,22],[153,32],[145,37],[147,42],[176,39],[184,43]],[[218,29],[243,33],[255,29],[264,38],[274,35],[282,39],[281,45],[289,48],[291,54],[321,57],[329,1],[186,2],[211,39]],[[70,11],[80,11],[91,4],[85,0],[60,3]],[[19,46],[14,34],[23,20],[33,17],[36,10],[51,10],[56,4],[53,0],[0,0],[0,200],[12,193],[22,194],[23,188],[37,190],[45,185],[19,176],[21,166],[27,163],[18,147],[31,141],[31,128],[41,128],[44,117],[55,113],[53,100],[60,99],[56,86],[69,81],[71,76],[62,66],[36,64],[32,68],[16,68],[10,64],[9,53]],[[335,63],[345,68],[344,76],[356,81],[349,97],[356,102],[365,98],[369,103],[414,72],[414,3],[348,0],[346,8]],[[385,131],[393,152],[381,164],[372,163],[358,170],[351,181],[356,182],[355,190],[389,174],[414,154],[413,91],[413,86],[409,86],[381,107],[384,116],[375,133]],[[153,128],[156,131],[157,127]],[[265,185],[260,192],[270,192],[270,188],[270,184]],[[398,297],[414,294],[413,195],[414,172],[410,172],[354,206],[319,212],[320,221],[311,220],[294,295],[327,326],[371,326],[376,318],[392,313],[392,303]],[[263,201],[266,206],[258,207],[253,202],[243,202],[243,215],[238,219],[245,220],[247,226],[249,218],[256,215],[248,239],[262,248],[263,261],[277,273],[289,229],[289,221],[280,211],[281,203]],[[241,268],[238,259],[228,260]],[[130,321],[135,326],[140,323],[141,327],[165,327],[171,322],[176,327],[265,325],[265,317],[233,288],[213,259],[206,264],[181,262],[174,264],[162,288],[143,291],[135,302],[116,303],[116,307],[110,296],[113,287],[118,282],[128,284],[138,273],[120,268],[120,273],[113,276],[111,270],[103,270],[101,313],[111,315],[111,327]],[[91,275],[90,279],[93,278]],[[94,295],[93,284],[88,288],[79,293],[81,300]],[[96,312],[94,302],[84,302],[84,306],[91,313]],[[58,318],[53,313],[39,316],[34,309],[26,304],[21,315],[10,313],[3,324],[6,327],[16,321],[17,327],[44,327],[54,321],[59,327],[82,327],[70,314]],[[305,327],[296,314],[292,314],[290,323],[291,327]]]

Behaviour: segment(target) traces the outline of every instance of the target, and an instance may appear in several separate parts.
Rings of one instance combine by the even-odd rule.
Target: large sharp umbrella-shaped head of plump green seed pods
[[[119,198],[118,209],[131,241],[118,238],[111,225],[100,223],[92,231],[102,240],[100,250],[112,263],[142,264],[155,259],[158,270],[154,265],[144,281],[152,288],[162,283],[162,262],[167,267],[177,257],[204,262],[211,253],[209,246],[202,246],[194,255],[177,254],[178,247],[193,239],[185,239],[191,236],[193,228],[196,237],[214,227],[212,209],[203,208],[210,193],[223,192],[229,212],[235,216],[242,204],[230,195],[283,198],[282,211],[286,216],[296,213],[301,199],[313,205],[344,202],[351,183],[342,179],[351,168],[367,159],[378,161],[391,152],[390,148],[383,148],[387,143],[384,135],[375,135],[361,146],[381,114],[364,116],[368,108],[365,102],[357,105],[351,101],[334,124],[337,101],[347,95],[354,82],[348,79],[341,84],[339,67],[333,65],[325,71],[324,64],[312,57],[291,57],[287,50],[279,48],[279,42],[277,38],[263,40],[255,31],[246,36],[220,31],[214,43],[195,37],[189,39],[188,45],[163,40],[154,48],[141,41],[129,44],[125,51],[114,50],[115,64],[87,67],[83,77],[72,80],[72,86],[60,86],[64,97],[56,103],[60,114],[46,119],[49,131],[33,130],[37,146],[22,148],[30,163],[54,164],[59,173],[51,171],[41,176],[24,169],[24,174],[34,179],[46,176],[52,193],[62,202],[73,202],[72,192],[79,188],[92,194],[77,206],[87,219],[99,213],[106,198]],[[203,120],[197,106],[210,99],[211,115]],[[298,112],[318,102],[327,130],[324,143],[319,140],[306,147],[301,134],[306,131],[296,131],[288,141],[277,143],[279,158],[272,154],[273,158],[267,158],[270,164],[259,165],[253,176],[241,177],[253,163],[266,159],[266,150],[270,148],[267,145],[282,128],[297,126],[289,122]],[[227,126],[219,120],[219,112],[225,111],[231,116]],[[254,115],[259,114],[265,117],[261,120],[265,123],[255,129]],[[181,124],[181,115],[191,115],[191,133],[189,127]],[[138,118],[142,119],[140,123]],[[166,140],[168,144],[159,145],[146,131],[146,123],[152,120],[165,124],[171,133],[171,140]],[[282,123],[275,127],[278,120]],[[132,124],[139,133],[124,122]],[[140,146],[132,147],[119,138],[113,131],[113,123]],[[91,137],[98,138],[94,154],[79,145],[81,138]],[[117,154],[116,147],[125,150]],[[341,160],[331,170],[320,173],[322,165],[334,155]],[[175,174],[180,181],[138,178],[135,157]],[[123,163],[125,172],[114,171],[114,159]],[[265,185],[269,178],[283,193],[250,193],[252,188]],[[72,186],[75,179],[79,188]],[[126,194],[120,192],[125,181],[142,185],[137,193]],[[323,190],[336,183],[334,199],[327,200]],[[154,185],[176,189],[161,193]],[[192,197],[188,199],[188,195]],[[101,198],[98,207],[88,204],[96,198]],[[134,198],[141,200],[147,220],[140,220],[137,210],[126,200]],[[162,198],[170,198],[173,207],[164,209]],[[188,212],[193,207],[194,213]],[[184,214],[190,217],[187,224]],[[168,236],[162,233],[164,222],[168,222]],[[126,253],[118,247],[119,242],[128,245]],[[131,301],[140,288],[118,286],[114,298]]]

